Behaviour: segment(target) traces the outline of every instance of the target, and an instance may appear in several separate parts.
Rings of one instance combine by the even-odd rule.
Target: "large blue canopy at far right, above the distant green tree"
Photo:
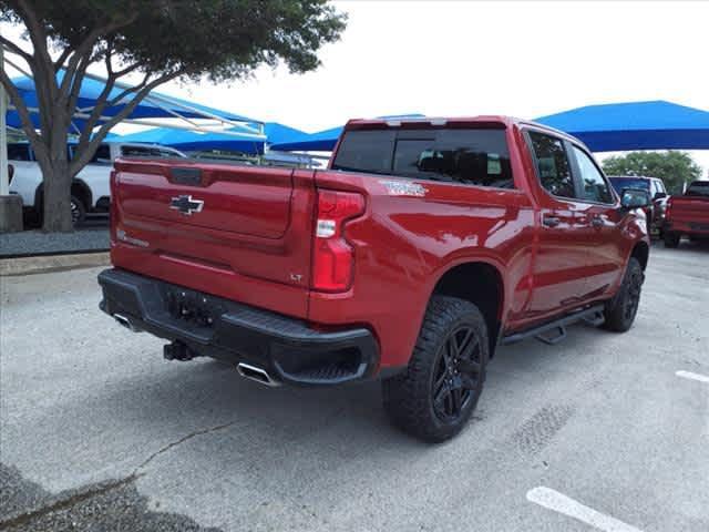
[[[587,105],[535,120],[594,152],[709,150],[709,112],[666,101]]]

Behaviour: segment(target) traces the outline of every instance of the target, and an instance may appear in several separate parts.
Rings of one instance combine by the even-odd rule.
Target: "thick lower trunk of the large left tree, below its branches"
[[[71,233],[71,174],[66,151],[63,157],[53,157],[42,165],[43,177],[43,222],[45,233]]]

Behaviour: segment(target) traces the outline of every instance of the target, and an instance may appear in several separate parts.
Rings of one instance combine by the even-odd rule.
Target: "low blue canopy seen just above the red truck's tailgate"
[[[266,136],[256,137],[250,132],[232,127],[229,134],[217,132],[199,132],[173,130],[169,127],[153,127],[151,130],[122,135],[121,142],[141,142],[147,144],[162,144],[183,152],[204,150],[227,150],[249,154],[264,153]],[[244,133],[236,135],[234,133]]]

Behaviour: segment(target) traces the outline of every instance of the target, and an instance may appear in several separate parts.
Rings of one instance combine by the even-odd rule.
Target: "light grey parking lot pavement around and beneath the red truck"
[[[99,311],[97,272],[1,279],[0,530],[709,530],[709,246],[653,249],[625,335],[501,349],[441,446],[376,382],[164,361]]]

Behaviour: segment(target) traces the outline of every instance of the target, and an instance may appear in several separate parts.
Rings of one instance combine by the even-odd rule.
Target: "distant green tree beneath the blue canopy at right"
[[[682,192],[685,183],[698,180],[701,167],[686,152],[630,152],[603,162],[607,175],[659,177],[670,194]]]

